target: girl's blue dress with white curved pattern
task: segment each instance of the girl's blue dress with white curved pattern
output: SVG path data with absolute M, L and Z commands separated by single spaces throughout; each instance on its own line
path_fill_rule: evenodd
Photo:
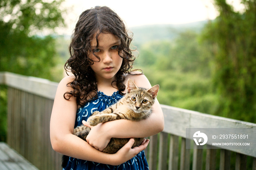
M 76 112 L 75 127 L 81 125 L 82 120 L 87 120 L 94 111 L 101 112 L 110 105 L 115 104 L 122 97 L 123 96 L 118 92 L 114 92 L 112 96 L 107 96 L 102 92 L 98 92 L 97 98 L 93 98 Z M 144 151 L 118 166 L 69 157 L 68 165 L 63 168 L 63 170 L 148 170 L 148 163 Z

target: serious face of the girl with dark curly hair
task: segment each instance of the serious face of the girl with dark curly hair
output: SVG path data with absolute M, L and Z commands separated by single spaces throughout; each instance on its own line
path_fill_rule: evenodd
M 93 53 L 89 54 L 89 58 L 94 61 L 91 69 L 94 71 L 96 80 L 99 79 L 114 79 L 116 73 L 120 69 L 123 58 L 118 55 L 118 47 L 120 46 L 120 39 L 110 33 L 101 33 L 98 36 L 98 48 L 94 52 L 100 57 L 100 61 Z M 91 48 L 94 50 L 97 46 L 96 38 L 91 41 Z

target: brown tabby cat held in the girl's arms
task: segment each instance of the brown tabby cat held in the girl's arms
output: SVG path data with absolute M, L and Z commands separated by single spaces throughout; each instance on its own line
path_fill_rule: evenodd
M 152 113 L 152 105 L 155 102 L 159 85 L 155 85 L 150 89 L 138 88 L 134 82 L 129 79 L 127 82 L 127 93 L 116 104 L 106 108 L 102 112 L 96 111 L 88 118 L 87 122 L 91 126 L 99 123 L 117 119 L 127 119 L 139 121 L 147 119 Z M 86 137 L 90 132 L 90 128 L 84 125 L 74 129 L 74 135 L 86 141 Z M 143 138 L 135 138 L 132 147 L 139 146 Z M 111 138 L 108 146 L 103 152 L 114 154 L 129 141 L 128 138 Z M 62 167 L 67 166 L 68 157 L 63 155 Z

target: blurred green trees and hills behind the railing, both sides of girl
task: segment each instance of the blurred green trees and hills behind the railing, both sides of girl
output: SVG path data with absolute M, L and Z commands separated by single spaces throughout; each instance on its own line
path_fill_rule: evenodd
M 61 80 L 70 40 L 54 33 L 64 26 L 62 2 L 0 2 L 0 71 Z M 215 20 L 130 28 L 139 52 L 134 69 L 160 85 L 161 104 L 256 123 L 256 0 L 242 0 L 244 11 L 214 3 Z M 0 88 L 4 141 L 6 89 Z

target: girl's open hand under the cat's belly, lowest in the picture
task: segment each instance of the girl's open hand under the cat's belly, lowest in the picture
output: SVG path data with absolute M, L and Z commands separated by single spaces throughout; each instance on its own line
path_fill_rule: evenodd
M 138 147 L 131 148 L 134 143 L 134 138 L 131 138 L 127 144 L 125 144 L 119 151 L 117 151 L 114 155 L 114 160 L 117 162 L 114 165 L 120 165 L 137 155 L 139 152 L 146 149 L 149 143 L 149 139 L 144 139 L 143 142 Z

